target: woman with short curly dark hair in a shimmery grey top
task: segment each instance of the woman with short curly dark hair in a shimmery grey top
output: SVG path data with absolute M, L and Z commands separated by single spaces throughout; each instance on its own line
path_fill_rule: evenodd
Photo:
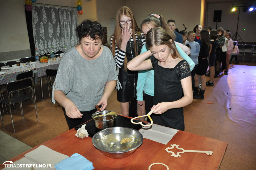
M 101 45 L 104 28 L 85 20 L 76 31 L 80 42 L 62 57 L 52 92 L 69 129 L 90 120 L 95 105 L 106 108 L 118 79 L 112 53 Z

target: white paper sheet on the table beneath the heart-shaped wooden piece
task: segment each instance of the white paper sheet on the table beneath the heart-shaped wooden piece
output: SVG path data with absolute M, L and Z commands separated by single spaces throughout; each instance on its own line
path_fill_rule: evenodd
M 142 127 L 139 132 L 141 132 L 142 136 L 146 139 L 150 139 L 152 141 L 166 145 L 178 132 L 178 130 L 157 124 L 152 124 L 152 126 Z

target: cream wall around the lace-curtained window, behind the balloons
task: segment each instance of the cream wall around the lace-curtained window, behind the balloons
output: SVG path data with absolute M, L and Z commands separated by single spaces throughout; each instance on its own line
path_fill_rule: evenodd
M 77 0 L 37 0 L 36 3 L 73 6 Z M 78 15 L 78 22 L 84 19 L 97 20 L 96 0 L 82 1 L 83 14 Z M 31 56 L 25 18 L 24 0 L 0 1 L 0 61 Z

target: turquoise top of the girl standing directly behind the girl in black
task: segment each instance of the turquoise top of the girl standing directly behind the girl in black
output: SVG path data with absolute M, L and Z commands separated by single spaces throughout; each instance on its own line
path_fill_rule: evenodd
M 191 58 L 177 45 L 177 50 L 179 54 L 182 56 L 183 59 L 185 59 L 189 66 L 190 71 L 192 71 L 195 67 L 195 63 L 191 60 Z M 146 48 L 146 44 L 141 49 L 141 54 L 143 52 L 146 52 L 148 49 Z M 137 100 L 143 101 L 143 91 L 144 93 L 154 96 L 154 70 L 148 69 L 148 70 L 140 70 L 138 71 L 138 80 L 137 80 Z

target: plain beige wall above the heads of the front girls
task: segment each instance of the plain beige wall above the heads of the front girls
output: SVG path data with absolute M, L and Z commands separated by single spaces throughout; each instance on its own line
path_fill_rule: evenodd
M 188 31 L 200 24 L 201 0 L 128 0 L 126 6 L 132 9 L 138 26 L 147 15 L 152 13 L 163 15 L 166 22 L 168 19 L 174 19 L 179 31 L 184 30 L 182 24 Z

